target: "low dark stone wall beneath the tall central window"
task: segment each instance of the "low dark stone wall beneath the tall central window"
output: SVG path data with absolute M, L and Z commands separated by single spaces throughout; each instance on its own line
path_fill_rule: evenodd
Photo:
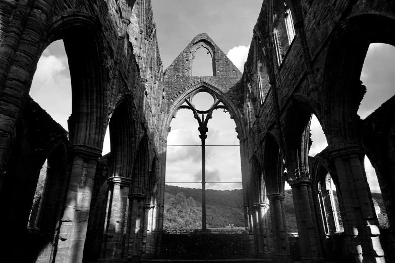
M 155 233 L 155 258 L 229 259 L 254 258 L 254 235 L 244 229 L 174 229 Z

